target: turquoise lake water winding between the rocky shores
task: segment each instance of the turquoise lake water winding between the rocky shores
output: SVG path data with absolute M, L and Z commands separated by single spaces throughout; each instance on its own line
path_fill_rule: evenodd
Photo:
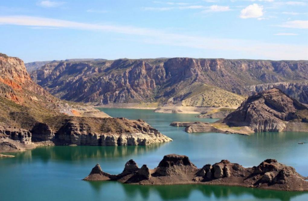
M 214 121 L 193 114 L 163 114 L 151 110 L 101 108 L 113 117 L 144 119 L 172 142 L 151 146 L 57 146 L 12 153 L 0 159 L 0 200 L 308 200 L 307 192 L 265 191 L 243 187 L 205 185 L 138 186 L 117 182 L 82 181 L 99 163 L 120 173 L 129 159 L 139 167 L 158 165 L 164 155 L 187 155 L 201 168 L 228 159 L 245 167 L 267 158 L 293 166 L 308 176 L 308 132 L 258 133 L 252 136 L 186 133 L 172 121 Z

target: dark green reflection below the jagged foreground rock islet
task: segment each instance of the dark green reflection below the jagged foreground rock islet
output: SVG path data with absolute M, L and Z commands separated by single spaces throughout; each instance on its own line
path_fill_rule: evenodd
M 104 191 L 104 186 L 121 185 L 127 197 L 136 198 L 141 196 L 143 200 L 149 199 L 150 195 L 153 193 L 159 195 L 161 200 L 189 199 L 192 198 L 193 191 L 201 192 L 204 196 L 203 198 L 198 197 L 199 199 L 211 199 L 213 197 L 216 199 L 228 199 L 230 197 L 245 199 L 252 196 L 255 199 L 278 199 L 288 201 L 296 196 L 308 194 L 308 192 L 299 191 L 272 191 L 236 186 L 198 184 L 144 186 L 123 184 L 116 181 L 92 181 L 89 183 L 96 192 Z

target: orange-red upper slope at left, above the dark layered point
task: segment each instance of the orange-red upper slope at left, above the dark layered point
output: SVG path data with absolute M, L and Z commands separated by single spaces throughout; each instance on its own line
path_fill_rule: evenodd
M 32 81 L 22 60 L 0 54 L 0 125 L 30 129 L 50 116 L 82 116 L 91 112 L 99 111 L 53 97 Z

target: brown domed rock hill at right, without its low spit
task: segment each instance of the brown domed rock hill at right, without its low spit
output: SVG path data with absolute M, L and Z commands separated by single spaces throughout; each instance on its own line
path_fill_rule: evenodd
M 302 122 L 307 126 L 307 117 L 307 105 L 273 88 L 248 97 L 223 123 L 249 126 L 256 132 L 279 132 L 288 130 L 289 122 Z

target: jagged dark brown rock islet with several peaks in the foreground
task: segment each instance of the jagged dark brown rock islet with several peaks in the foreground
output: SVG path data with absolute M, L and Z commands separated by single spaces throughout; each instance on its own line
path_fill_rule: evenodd
M 244 168 L 243 166 L 221 160 L 213 165 L 206 164 L 197 168 L 187 156 L 169 154 L 154 169 L 146 165 L 138 168 L 130 160 L 134 169 L 124 171 L 118 175 L 110 175 L 102 171 L 97 164 L 90 175 L 84 180 L 117 180 L 122 183 L 141 185 L 165 184 L 215 184 L 229 186 L 256 187 L 283 191 L 307 191 L 306 177 L 299 175 L 294 168 L 278 163 L 277 160 L 267 159 L 258 166 Z

